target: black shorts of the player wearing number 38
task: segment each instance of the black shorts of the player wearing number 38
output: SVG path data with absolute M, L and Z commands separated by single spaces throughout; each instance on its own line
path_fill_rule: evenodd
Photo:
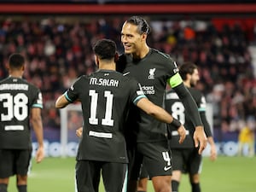
M 0 149 L 0 178 L 27 175 L 31 164 L 32 150 Z

